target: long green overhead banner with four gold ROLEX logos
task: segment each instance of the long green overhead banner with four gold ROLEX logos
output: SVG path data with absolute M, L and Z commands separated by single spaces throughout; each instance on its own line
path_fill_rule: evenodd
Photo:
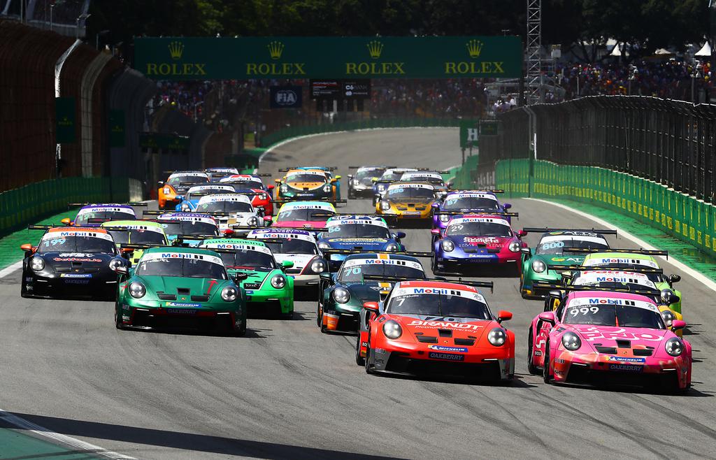
M 518 36 L 137 37 L 153 79 L 517 78 Z

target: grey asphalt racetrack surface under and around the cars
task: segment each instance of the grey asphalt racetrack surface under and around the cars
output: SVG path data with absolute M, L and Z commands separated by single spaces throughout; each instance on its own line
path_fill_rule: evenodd
M 331 134 L 280 147 L 261 172 L 450 167 L 457 142 L 454 129 Z M 352 200 L 342 210 L 371 206 Z M 594 226 L 539 202 L 513 200 L 513 210 L 518 228 Z M 407 233 L 409 249 L 427 250 L 427 230 Z M 495 279 L 485 295 L 493 311 L 514 314 L 516 381 L 483 386 L 369 376 L 354 363 L 354 336 L 320 333 L 314 302 L 296 303 L 294 320 L 249 320 L 244 338 L 117 331 L 112 303 L 23 299 L 19 277 L 0 280 L 0 408 L 138 459 L 716 456 L 715 293 L 688 276 L 679 288 L 695 363 L 683 396 L 529 375 L 527 328 L 542 304 L 521 299 L 517 278 Z

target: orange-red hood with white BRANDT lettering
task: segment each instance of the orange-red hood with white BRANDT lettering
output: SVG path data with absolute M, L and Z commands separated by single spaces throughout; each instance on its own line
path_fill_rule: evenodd
M 422 333 L 423 336 L 438 337 L 438 330 L 450 331 L 452 337 L 445 337 L 452 344 L 453 338 L 475 338 L 475 344 L 480 343 L 480 339 L 485 335 L 485 331 L 489 331 L 493 327 L 500 325 L 493 320 L 477 320 L 473 318 L 449 318 L 428 315 L 387 315 L 392 320 L 396 320 L 402 326 L 403 331 Z M 442 337 L 439 343 L 442 342 Z

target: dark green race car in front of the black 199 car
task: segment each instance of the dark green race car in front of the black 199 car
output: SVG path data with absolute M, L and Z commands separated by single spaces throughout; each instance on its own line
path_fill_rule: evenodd
M 221 257 L 198 248 L 150 248 L 119 279 L 115 324 L 122 328 L 210 328 L 246 333 L 245 275 L 230 276 Z

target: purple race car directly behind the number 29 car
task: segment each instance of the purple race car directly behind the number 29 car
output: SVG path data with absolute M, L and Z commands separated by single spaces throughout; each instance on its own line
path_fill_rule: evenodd
M 432 228 L 440 230 L 448 226 L 452 215 L 470 212 L 507 212 L 510 203 L 500 204 L 495 193 L 503 190 L 450 190 L 442 202 L 432 205 Z M 507 221 L 511 222 L 510 216 Z

